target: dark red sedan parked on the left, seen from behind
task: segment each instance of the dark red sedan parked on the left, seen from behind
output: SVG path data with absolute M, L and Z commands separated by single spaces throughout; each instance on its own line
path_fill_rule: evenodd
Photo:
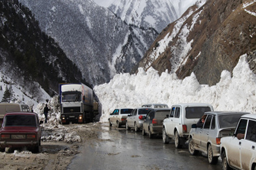
M 0 128 L 0 149 L 27 147 L 38 153 L 41 144 L 41 127 L 38 114 L 29 112 L 6 113 Z

